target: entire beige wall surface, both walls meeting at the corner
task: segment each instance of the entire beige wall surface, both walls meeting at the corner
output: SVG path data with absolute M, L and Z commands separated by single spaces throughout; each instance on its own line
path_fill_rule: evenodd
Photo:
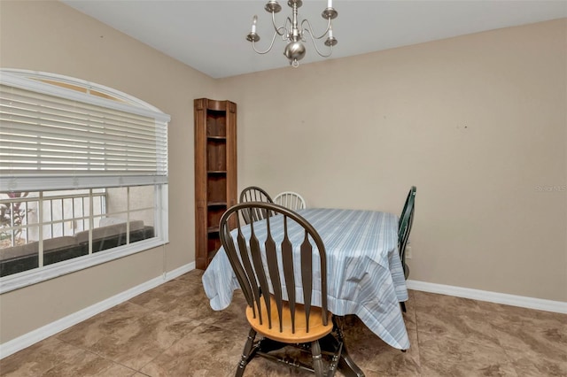
M 170 243 L 0 296 L 0 342 L 194 260 L 197 97 L 238 105 L 239 188 L 400 212 L 416 185 L 411 279 L 567 301 L 567 193 L 537 190 L 567 184 L 566 32 L 552 21 L 214 81 L 64 4 L 1 1 L 0 66 L 117 88 L 172 121 Z

